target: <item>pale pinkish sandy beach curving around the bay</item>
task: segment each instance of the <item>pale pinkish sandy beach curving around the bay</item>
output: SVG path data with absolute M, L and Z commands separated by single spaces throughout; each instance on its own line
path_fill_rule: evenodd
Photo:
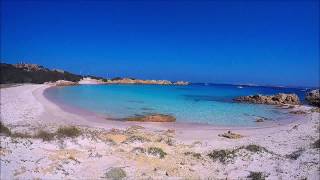
M 263 128 L 118 122 L 58 106 L 43 95 L 49 87 L 1 89 L 1 122 L 12 132 L 75 125 L 82 134 L 52 141 L 2 135 L 1 179 L 97 179 L 110 177 L 115 167 L 128 179 L 246 179 L 251 172 L 267 179 L 319 179 L 319 148 L 313 145 L 319 113 L 310 107 L 295 108 L 307 112 L 297 121 Z M 221 137 L 228 130 L 242 137 Z M 216 159 L 217 151 L 224 158 Z

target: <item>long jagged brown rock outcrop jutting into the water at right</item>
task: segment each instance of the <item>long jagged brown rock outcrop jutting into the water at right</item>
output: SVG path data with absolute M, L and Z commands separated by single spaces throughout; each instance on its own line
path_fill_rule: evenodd
M 243 102 L 243 103 L 254 103 L 254 104 L 269 104 L 269 105 L 300 104 L 299 97 L 296 94 L 284 94 L 284 93 L 279 93 L 271 96 L 264 96 L 260 94 L 252 95 L 252 96 L 241 96 L 241 97 L 235 98 L 234 101 Z

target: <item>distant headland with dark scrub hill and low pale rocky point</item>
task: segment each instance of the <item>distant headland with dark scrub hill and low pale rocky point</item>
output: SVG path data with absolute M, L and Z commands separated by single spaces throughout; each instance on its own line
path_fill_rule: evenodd
M 150 85 L 189 85 L 186 81 L 171 82 L 168 80 L 142 80 L 135 78 L 103 78 L 82 76 L 60 69 L 49 69 L 37 64 L 0 64 L 0 84 L 10 83 L 51 83 L 58 86 L 76 84 L 150 84 Z

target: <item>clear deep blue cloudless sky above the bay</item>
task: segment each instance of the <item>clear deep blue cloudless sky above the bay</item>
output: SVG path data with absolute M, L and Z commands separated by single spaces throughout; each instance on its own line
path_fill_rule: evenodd
M 3 62 L 104 77 L 319 86 L 319 0 L 1 2 Z

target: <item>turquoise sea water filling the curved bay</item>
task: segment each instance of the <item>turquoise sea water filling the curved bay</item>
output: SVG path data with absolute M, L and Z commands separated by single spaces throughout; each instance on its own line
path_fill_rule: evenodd
M 296 93 L 304 89 L 237 85 L 80 85 L 51 88 L 51 98 L 66 105 L 103 114 L 114 119 L 151 113 L 170 114 L 177 122 L 231 126 L 255 126 L 257 117 L 272 121 L 286 119 L 288 110 L 275 106 L 241 104 L 233 98 L 252 94 Z

